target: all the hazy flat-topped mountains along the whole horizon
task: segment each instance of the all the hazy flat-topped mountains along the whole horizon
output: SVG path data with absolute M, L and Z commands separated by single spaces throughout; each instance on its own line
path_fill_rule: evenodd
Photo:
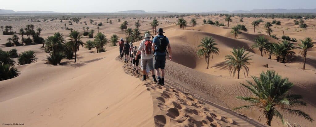
M 58 13 L 54 11 L 14 11 L 14 10 L 5 10 L 0 9 L 0 14 L 44 14 L 44 13 Z M 88 13 L 88 12 L 87 12 Z M 93 13 L 130 13 L 130 14 L 167 14 L 167 13 L 174 13 L 168 11 L 151 11 L 146 12 L 143 10 L 127 10 L 127 11 L 117 11 L 117 12 L 93 12 Z M 246 10 L 235 10 L 235 11 L 211 11 L 206 13 L 316 13 L 316 9 L 254 9 L 250 11 Z

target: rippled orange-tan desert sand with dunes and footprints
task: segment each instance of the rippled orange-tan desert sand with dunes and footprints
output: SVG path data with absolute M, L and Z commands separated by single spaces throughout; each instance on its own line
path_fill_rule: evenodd
M 230 109 L 246 104 L 235 98 L 237 95 L 250 95 L 250 92 L 240 85 L 251 80 L 251 76 L 258 76 L 267 69 L 276 70 L 283 77 L 289 78 L 295 84 L 291 92 L 301 94 L 307 107 L 298 109 L 307 112 L 313 119 L 316 118 L 315 84 L 316 80 L 316 48 L 309 49 L 307 55 L 306 70 L 302 70 L 302 57 L 296 55 L 288 63 L 278 63 L 272 56 L 260 56 L 257 49 L 250 49 L 253 39 L 261 34 L 266 34 L 263 23 L 253 32 L 252 20 L 259 18 L 244 18 L 239 22 L 239 17 L 233 17 L 229 27 L 236 24 L 244 24 L 248 32 L 242 32 L 238 39 L 230 34 L 229 27 L 216 27 L 202 25 L 203 19 L 219 20 L 227 24 L 224 17 L 218 16 L 187 16 L 189 22 L 196 18 L 198 25 L 180 30 L 173 24 L 176 19 L 159 20 L 165 35 L 169 38 L 173 47 L 173 60 L 166 64 L 166 86 L 156 86 L 151 81 L 141 81 L 140 75 L 132 72 L 131 64 L 124 64 L 119 55 L 118 47 L 106 45 L 106 52 L 96 54 L 95 49 L 87 50 L 82 47 L 77 53 L 78 62 L 64 59 L 63 66 L 51 66 L 45 64 L 47 53 L 39 45 L 14 47 L 19 52 L 33 50 L 39 58 L 37 62 L 16 66 L 21 75 L 0 82 L 0 119 L 3 123 L 24 123 L 25 126 L 265 126 L 265 121 L 257 121 L 258 109 L 241 110 L 240 113 Z M 97 32 L 96 25 L 88 27 Z M 93 19 L 95 22 L 105 22 L 100 26 L 100 32 L 107 35 L 113 33 L 119 37 L 121 34 L 119 25 L 128 20 L 128 27 L 135 28 L 132 18 L 110 18 L 113 24 L 106 24 L 105 18 Z M 138 19 L 137 19 L 138 20 Z M 149 19 L 139 19 L 140 30 L 151 30 Z M 305 20 L 309 26 L 301 29 L 294 25 L 293 19 L 263 19 L 264 21 L 280 20 L 281 25 L 273 25 L 273 33 L 281 38 L 283 31 L 291 38 L 304 39 L 311 37 L 316 40 L 316 21 Z M 64 20 L 65 22 L 66 20 Z M 54 32 L 62 32 L 66 37 L 69 30 L 62 30 L 64 23 L 57 21 L 30 22 L 0 21 L 1 26 L 11 25 L 12 31 L 17 31 L 27 24 L 34 24 L 35 29 L 43 29 L 41 37 L 46 38 Z M 68 23 L 67 23 L 68 24 Z M 69 28 L 83 32 L 84 24 L 73 23 Z M 87 27 L 85 26 L 85 27 Z M 152 32 L 152 30 L 151 30 Z M 206 69 L 203 58 L 197 58 L 197 45 L 204 37 L 212 36 L 218 48 L 219 55 L 214 55 L 210 61 L 210 68 Z M 279 42 L 274 38 L 268 38 L 271 42 Z M 7 42 L 10 35 L 0 35 L 0 44 Z M 83 42 L 92 40 L 83 38 Z M 295 45 L 300 42 L 295 43 Z M 139 45 L 136 42 L 134 45 Z M 221 67 L 224 56 L 231 54 L 233 47 L 245 47 L 252 56 L 250 73 L 241 79 L 230 77 L 228 70 Z M 12 47 L 1 49 L 10 50 Z M 298 54 L 299 49 L 295 49 Z M 264 67 L 269 64 L 269 68 Z M 122 80 L 123 79 L 123 80 Z M 312 127 L 313 123 L 303 118 L 284 114 L 285 118 L 301 126 Z M 1 124 L 1 123 L 0 123 Z M 0 125 L 1 126 L 1 125 Z M 278 119 L 272 121 L 272 126 L 282 126 Z

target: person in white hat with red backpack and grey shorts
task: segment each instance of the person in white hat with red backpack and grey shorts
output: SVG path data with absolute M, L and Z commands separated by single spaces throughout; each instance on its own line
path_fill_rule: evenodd
M 143 80 L 146 80 L 146 69 L 148 67 L 153 76 L 153 81 L 156 83 L 157 80 L 156 80 L 156 76 L 154 72 L 153 51 L 151 49 L 151 45 L 153 44 L 153 41 L 150 40 L 150 35 L 148 33 L 146 33 L 143 38 L 145 39 L 139 45 L 138 51 L 135 55 L 135 60 L 137 59 L 137 55 L 141 53 L 141 61 L 142 61 L 141 67 L 143 69 Z

